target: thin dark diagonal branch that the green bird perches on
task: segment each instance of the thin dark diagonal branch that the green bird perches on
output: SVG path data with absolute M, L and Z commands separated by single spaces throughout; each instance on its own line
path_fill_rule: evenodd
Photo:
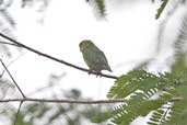
M 32 48 L 32 47 L 28 47 L 28 46 L 26 46 L 26 45 L 24 45 L 24 44 L 22 44 L 22 43 L 20 43 L 20 42 L 17 42 L 17 41 L 15 41 L 15 39 L 13 39 L 13 38 L 7 36 L 7 35 L 4 35 L 4 34 L 2 34 L 2 33 L 0 33 L 0 36 L 3 37 L 3 38 L 5 38 L 5 39 L 9 39 L 10 42 L 16 44 L 17 46 L 21 46 L 21 47 L 23 47 L 23 48 L 25 48 L 25 49 L 27 49 L 27 50 L 30 50 L 30 52 L 33 52 L 33 53 L 35 53 L 35 54 L 38 54 L 39 56 L 49 58 L 49 59 L 51 59 L 51 60 L 55 60 L 55 61 L 57 61 L 57 63 L 67 65 L 67 66 L 69 66 L 69 67 L 75 68 L 75 69 L 79 69 L 79 70 L 81 70 L 81 71 L 85 71 L 85 72 L 89 72 L 89 71 L 90 71 L 89 69 L 85 69 L 85 68 L 75 66 L 75 65 L 73 65 L 73 64 L 67 63 L 67 61 L 65 61 L 65 60 L 58 59 L 58 58 L 56 58 L 56 57 L 52 57 L 52 56 L 50 56 L 50 55 L 44 54 L 44 53 L 42 53 L 42 52 L 39 52 L 39 50 L 36 50 L 36 49 Z M 97 72 L 96 72 L 96 71 L 92 71 L 92 73 L 97 76 Z M 105 73 L 101 73 L 101 76 L 102 76 L 102 77 L 105 77 L 105 78 L 110 78 L 110 79 L 117 79 L 117 78 L 118 78 L 118 77 L 116 77 L 116 76 L 110 76 L 110 75 L 105 75 Z

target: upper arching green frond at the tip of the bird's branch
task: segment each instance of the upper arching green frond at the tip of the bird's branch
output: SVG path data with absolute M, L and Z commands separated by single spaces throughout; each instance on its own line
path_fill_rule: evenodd
M 155 76 L 144 70 L 133 70 L 119 77 L 115 84 L 110 88 L 107 96 L 110 99 L 126 98 L 137 90 L 152 92 L 155 91 L 155 88 L 162 88 L 163 84 L 165 86 L 163 81 L 164 77 L 162 78 L 161 73 L 160 76 Z M 152 89 L 152 91 L 150 91 L 150 89 Z

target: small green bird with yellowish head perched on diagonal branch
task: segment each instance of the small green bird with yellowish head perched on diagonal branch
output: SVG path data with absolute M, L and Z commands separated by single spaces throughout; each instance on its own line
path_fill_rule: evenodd
M 98 75 L 102 70 L 112 71 L 105 54 L 94 45 L 90 39 L 84 39 L 79 44 L 80 52 L 83 55 L 85 64 L 90 68 L 89 75 L 92 70 L 96 71 Z

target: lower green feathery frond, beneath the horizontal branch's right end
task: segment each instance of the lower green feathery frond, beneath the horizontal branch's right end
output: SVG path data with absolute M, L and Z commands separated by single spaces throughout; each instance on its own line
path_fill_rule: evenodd
M 110 122 L 114 124 L 129 125 L 136 117 L 145 116 L 152 110 L 161 107 L 165 104 L 166 100 L 172 98 L 171 94 L 165 93 L 157 100 L 149 100 L 153 94 L 147 95 L 145 93 L 137 92 L 126 103 L 115 106 L 114 111 L 104 113 L 102 117 L 97 117 L 97 121 L 94 122 L 97 123 L 110 118 Z

